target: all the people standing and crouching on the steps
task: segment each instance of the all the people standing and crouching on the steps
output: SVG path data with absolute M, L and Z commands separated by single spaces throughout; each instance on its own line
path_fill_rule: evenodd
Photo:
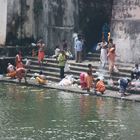
M 45 43 L 42 39 L 40 39 L 35 45 L 38 48 L 38 64 L 40 66 L 40 73 L 35 76 L 36 81 L 39 84 L 46 84 L 46 76 L 42 72 L 42 65 L 45 57 Z M 81 35 L 74 36 L 74 50 L 75 53 L 72 54 L 69 50 L 68 44 L 66 40 L 62 41 L 62 47 L 59 45 L 56 46 L 54 55 L 52 58 L 55 58 L 58 62 L 58 66 L 60 68 L 60 80 L 65 78 L 65 66 L 68 59 L 75 59 L 76 63 L 81 63 L 83 60 L 83 50 L 84 50 L 84 39 Z M 97 50 L 100 50 L 100 63 L 101 67 L 104 69 L 106 64 L 109 64 L 109 74 L 110 77 L 115 69 L 115 57 L 116 57 L 116 46 L 113 43 L 112 39 L 109 41 L 105 41 L 104 38 L 102 42 L 97 44 Z M 15 57 L 15 66 L 11 63 L 8 63 L 7 66 L 7 76 L 11 78 L 17 78 L 19 83 L 24 78 L 27 83 L 26 74 L 28 72 L 27 66 L 29 64 L 23 64 L 21 51 L 18 51 L 18 54 Z M 79 75 L 79 83 L 82 90 L 87 90 L 88 92 L 94 89 L 95 93 L 104 94 L 106 90 L 105 83 L 102 78 L 97 77 L 96 79 L 93 77 L 92 65 L 88 64 L 87 72 L 81 72 Z M 120 78 L 119 83 L 119 92 L 121 96 L 125 95 L 126 88 L 130 85 L 133 79 L 140 78 L 140 68 L 138 64 L 135 65 L 135 68 L 131 72 L 131 79 L 129 78 Z M 63 80 L 64 81 L 64 80 Z M 67 80 L 68 81 L 68 80 Z

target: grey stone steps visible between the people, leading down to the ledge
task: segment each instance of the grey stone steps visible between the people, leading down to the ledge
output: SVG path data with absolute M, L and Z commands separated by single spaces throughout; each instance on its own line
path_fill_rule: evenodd
M 34 73 L 39 73 L 40 67 L 38 65 L 37 57 L 28 57 L 28 59 L 31 60 L 31 65 L 28 67 L 30 71 L 27 74 L 27 77 L 33 77 Z M 46 63 L 47 62 L 47 63 Z M 99 63 L 99 53 L 91 53 L 87 55 L 87 58 L 82 63 L 75 63 L 74 60 L 68 60 L 68 63 L 70 64 L 70 71 L 66 72 L 65 74 L 72 74 L 76 79 L 79 78 L 79 75 L 81 72 L 87 71 L 87 65 L 92 64 L 93 68 L 96 70 L 96 73 L 93 73 L 94 77 L 97 78 L 97 73 L 104 73 L 104 79 L 107 86 L 107 89 L 110 90 L 118 90 L 118 84 L 117 81 L 120 77 L 129 77 L 131 69 L 134 66 L 133 64 L 126 64 L 126 63 L 116 63 L 119 72 L 113 73 L 112 79 L 116 83 L 113 87 L 109 86 L 107 81 L 110 79 L 109 72 L 108 72 L 108 66 L 101 72 L 99 69 L 100 63 Z M 59 66 L 56 61 L 56 59 L 53 58 L 45 58 L 44 64 L 42 66 L 43 73 L 47 76 L 47 79 L 53 82 L 59 82 Z M 136 91 L 134 89 L 129 90 L 131 93 L 140 93 L 140 91 Z

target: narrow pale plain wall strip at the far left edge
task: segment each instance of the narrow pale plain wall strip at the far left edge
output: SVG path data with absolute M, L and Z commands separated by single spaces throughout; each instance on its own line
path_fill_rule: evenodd
M 0 1 L 0 45 L 5 45 L 7 26 L 7 0 Z

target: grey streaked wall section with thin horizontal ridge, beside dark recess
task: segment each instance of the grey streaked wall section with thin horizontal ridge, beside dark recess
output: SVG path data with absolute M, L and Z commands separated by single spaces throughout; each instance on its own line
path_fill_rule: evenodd
M 48 51 L 54 51 L 58 44 L 61 46 L 64 39 L 72 50 L 72 34 L 78 20 L 78 0 L 43 0 L 43 4 L 43 22 L 40 27 Z

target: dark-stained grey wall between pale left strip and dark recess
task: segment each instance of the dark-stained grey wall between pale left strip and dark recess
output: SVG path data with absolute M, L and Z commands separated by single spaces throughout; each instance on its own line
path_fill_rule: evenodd
M 51 52 L 66 39 L 71 47 L 77 23 L 78 0 L 10 0 L 7 44 L 26 45 L 43 38 Z

